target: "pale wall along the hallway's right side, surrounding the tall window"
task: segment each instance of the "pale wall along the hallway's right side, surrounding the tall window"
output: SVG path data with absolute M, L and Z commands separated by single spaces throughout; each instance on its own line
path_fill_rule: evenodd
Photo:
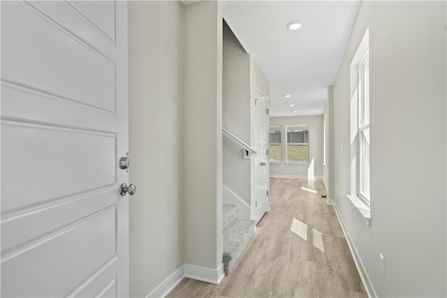
M 346 198 L 349 66 L 368 26 L 371 227 Z M 379 297 L 447 295 L 446 39 L 445 1 L 362 2 L 335 80 L 333 199 Z

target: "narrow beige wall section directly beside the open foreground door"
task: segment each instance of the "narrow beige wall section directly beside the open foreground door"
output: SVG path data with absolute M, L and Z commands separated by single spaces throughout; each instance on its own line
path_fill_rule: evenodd
M 183 6 L 129 1 L 131 297 L 145 297 L 184 262 Z

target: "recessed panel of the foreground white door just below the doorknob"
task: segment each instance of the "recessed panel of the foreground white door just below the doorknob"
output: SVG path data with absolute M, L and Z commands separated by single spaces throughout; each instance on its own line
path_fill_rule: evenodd
M 115 258 L 115 216 L 112 206 L 3 255 L 2 296 L 66 296 Z M 17 287 L 17 281 L 26 286 Z

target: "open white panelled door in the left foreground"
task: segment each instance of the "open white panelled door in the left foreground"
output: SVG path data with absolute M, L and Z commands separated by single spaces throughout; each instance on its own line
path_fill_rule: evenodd
M 1 1 L 1 296 L 128 297 L 127 4 Z

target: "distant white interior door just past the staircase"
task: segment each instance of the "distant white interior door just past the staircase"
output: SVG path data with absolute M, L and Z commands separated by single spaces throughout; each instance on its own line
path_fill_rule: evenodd
M 255 157 L 255 185 L 254 206 L 255 220 L 259 221 L 268 211 L 268 102 L 264 97 L 255 100 L 255 148 L 258 154 Z

